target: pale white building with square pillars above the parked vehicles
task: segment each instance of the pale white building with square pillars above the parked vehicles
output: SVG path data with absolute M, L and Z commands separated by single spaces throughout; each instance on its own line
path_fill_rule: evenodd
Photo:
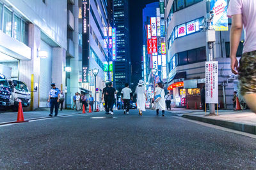
M 46 106 L 51 83 L 65 87 L 66 8 L 58 0 L 0 1 L 0 64 L 26 83 L 31 110 Z

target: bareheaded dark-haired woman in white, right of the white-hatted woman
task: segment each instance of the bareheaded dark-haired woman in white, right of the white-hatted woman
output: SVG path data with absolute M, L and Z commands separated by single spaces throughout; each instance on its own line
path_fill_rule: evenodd
M 156 115 L 159 115 L 159 110 L 162 111 L 162 116 L 164 117 L 164 110 L 165 110 L 165 100 L 164 100 L 164 96 L 165 96 L 165 92 L 164 92 L 164 87 L 163 87 L 163 83 L 159 82 L 157 83 L 157 87 L 155 90 L 155 97 L 157 95 L 161 94 L 161 99 L 159 101 L 155 101 L 156 104 Z

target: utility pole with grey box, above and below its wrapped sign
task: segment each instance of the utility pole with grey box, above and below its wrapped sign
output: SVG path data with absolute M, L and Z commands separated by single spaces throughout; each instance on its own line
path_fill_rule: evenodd
M 211 11 L 211 0 L 206 0 L 206 46 L 207 46 L 207 61 L 212 62 L 213 61 L 213 46 L 214 42 L 216 41 L 215 37 L 215 30 L 212 27 L 212 18 L 213 18 L 213 11 Z M 209 103 L 209 109 L 210 109 L 210 114 L 215 115 L 215 104 L 214 103 Z

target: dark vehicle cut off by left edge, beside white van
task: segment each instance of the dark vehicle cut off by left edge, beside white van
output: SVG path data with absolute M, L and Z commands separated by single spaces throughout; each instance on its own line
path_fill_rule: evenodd
M 9 83 L 4 76 L 0 73 L 0 108 L 6 108 L 10 106 L 10 98 L 12 97 L 12 91 L 10 89 Z

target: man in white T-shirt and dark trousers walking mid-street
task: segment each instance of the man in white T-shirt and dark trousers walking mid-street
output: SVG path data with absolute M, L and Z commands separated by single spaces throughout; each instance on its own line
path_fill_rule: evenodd
M 125 88 L 121 92 L 122 100 L 124 100 L 124 114 L 129 114 L 130 100 L 132 99 L 132 90 L 129 88 L 129 84 L 125 83 Z M 126 110 L 125 110 L 126 109 Z

